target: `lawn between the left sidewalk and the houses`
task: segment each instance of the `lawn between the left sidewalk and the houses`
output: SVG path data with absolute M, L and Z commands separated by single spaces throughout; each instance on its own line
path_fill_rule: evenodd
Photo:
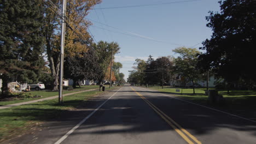
M 63 90 L 63 94 L 67 94 L 67 93 L 73 93 L 73 92 L 79 92 L 79 91 L 85 91 L 88 89 L 94 89 L 94 88 L 99 88 L 99 86 L 81 86 L 81 88 L 75 88 L 72 91 L 67 91 L 67 90 Z M 2 105 L 10 105 L 10 104 L 15 104 L 15 103 L 21 103 L 24 101 L 30 101 L 30 100 L 36 100 L 36 99 L 42 99 L 42 98 L 47 98 L 47 97 L 53 97 L 55 95 L 58 95 L 59 92 L 51 92 L 51 91 L 30 91 L 30 92 L 24 92 L 24 93 L 28 93 L 31 95 L 39 95 L 42 97 L 39 98 L 17 98 L 17 99 L 13 99 L 13 100 L 8 100 L 8 101 L 0 101 L 0 106 Z

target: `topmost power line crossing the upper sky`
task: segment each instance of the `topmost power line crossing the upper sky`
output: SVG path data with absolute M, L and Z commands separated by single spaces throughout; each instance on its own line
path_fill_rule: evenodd
M 187 3 L 187 2 L 195 2 L 195 1 L 201 1 L 201 0 L 176 1 L 176 2 L 155 3 L 155 4 L 141 4 L 141 5 L 128 5 L 128 6 L 108 7 L 108 8 L 101 8 L 101 9 L 121 9 L 121 8 L 149 7 L 149 6 L 155 6 L 155 5 L 166 5 L 166 4 L 174 4 L 174 3 Z M 95 9 L 98 9 L 98 8 L 95 8 Z

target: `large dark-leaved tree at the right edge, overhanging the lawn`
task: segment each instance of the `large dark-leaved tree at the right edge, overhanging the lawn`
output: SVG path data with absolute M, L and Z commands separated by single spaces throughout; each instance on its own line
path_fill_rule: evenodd
M 256 82 L 252 62 L 256 61 L 256 1 L 220 1 L 220 12 L 206 17 L 211 39 L 203 41 L 199 65 L 212 69 L 229 83 L 240 79 Z

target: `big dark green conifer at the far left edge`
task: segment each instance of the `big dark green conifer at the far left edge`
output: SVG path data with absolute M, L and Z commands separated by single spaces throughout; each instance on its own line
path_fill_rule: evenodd
M 42 56 L 43 5 L 39 0 L 0 1 L 0 73 L 3 91 L 11 79 L 38 80 Z

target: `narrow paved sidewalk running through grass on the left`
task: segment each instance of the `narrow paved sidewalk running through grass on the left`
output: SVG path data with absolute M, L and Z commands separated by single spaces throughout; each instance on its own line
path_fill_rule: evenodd
M 67 96 L 67 95 L 77 94 L 77 93 L 95 91 L 96 89 L 98 89 L 98 88 L 95 88 L 95 89 L 88 89 L 88 90 L 85 90 L 85 91 L 79 91 L 79 92 L 74 92 L 74 93 L 67 93 L 67 94 L 63 94 L 63 97 L 65 97 L 65 96 Z M 37 102 L 39 102 L 39 101 L 50 100 L 50 99 L 56 99 L 56 98 L 59 98 L 59 95 L 55 95 L 55 96 L 53 96 L 53 97 L 48 97 L 48 98 L 43 98 L 43 99 L 25 101 L 25 102 L 22 102 L 22 103 L 16 103 L 16 104 L 10 104 L 10 105 L 0 106 L 0 110 L 1 110 L 1 109 L 7 109 L 7 108 L 13 107 L 13 106 L 19 106 L 19 105 L 26 105 L 26 104 L 31 104 L 31 103 L 37 103 Z

